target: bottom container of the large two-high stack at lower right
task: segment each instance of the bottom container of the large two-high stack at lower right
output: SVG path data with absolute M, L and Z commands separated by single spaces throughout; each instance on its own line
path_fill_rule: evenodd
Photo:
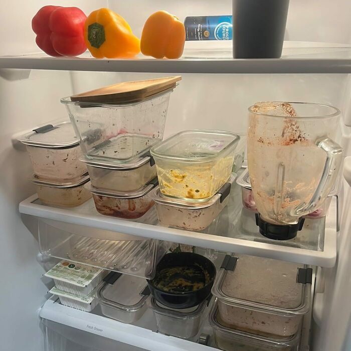
M 260 336 L 222 324 L 215 303 L 209 315 L 217 346 L 224 351 L 297 351 L 299 348 L 300 329 L 288 337 Z

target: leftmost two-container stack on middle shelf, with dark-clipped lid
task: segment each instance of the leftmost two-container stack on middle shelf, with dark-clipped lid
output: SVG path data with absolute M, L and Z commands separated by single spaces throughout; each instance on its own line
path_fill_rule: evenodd
M 21 135 L 19 141 L 26 145 L 34 170 L 30 179 L 43 203 L 74 207 L 91 198 L 83 187 L 89 176 L 79 160 L 82 151 L 70 122 L 36 127 Z

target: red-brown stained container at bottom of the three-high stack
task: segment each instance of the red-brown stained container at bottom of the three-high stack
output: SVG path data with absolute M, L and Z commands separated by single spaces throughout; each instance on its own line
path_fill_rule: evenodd
M 93 194 L 97 212 L 105 216 L 136 219 L 143 216 L 153 205 L 151 190 L 157 178 L 135 192 L 115 192 L 97 189 L 87 183 L 85 189 Z

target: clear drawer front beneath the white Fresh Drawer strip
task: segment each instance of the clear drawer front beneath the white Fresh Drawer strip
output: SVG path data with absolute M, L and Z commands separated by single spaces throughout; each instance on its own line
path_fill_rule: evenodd
M 143 351 L 101 335 L 42 318 L 45 351 Z

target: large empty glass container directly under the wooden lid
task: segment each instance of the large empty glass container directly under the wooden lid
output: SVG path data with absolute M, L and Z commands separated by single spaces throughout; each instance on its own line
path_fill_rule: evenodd
M 84 155 L 93 160 L 130 162 L 163 138 L 167 90 L 134 103 L 94 103 L 61 99 Z

